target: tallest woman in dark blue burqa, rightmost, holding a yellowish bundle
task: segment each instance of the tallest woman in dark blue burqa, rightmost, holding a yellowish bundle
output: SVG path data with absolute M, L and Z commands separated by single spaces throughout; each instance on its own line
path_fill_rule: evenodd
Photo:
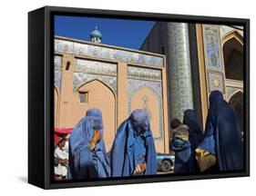
M 202 156 L 204 158 L 209 153 L 216 157 L 215 166 L 212 167 L 214 171 L 243 169 L 243 144 L 238 116 L 219 91 L 210 93 L 205 138 L 197 152 L 206 154 Z

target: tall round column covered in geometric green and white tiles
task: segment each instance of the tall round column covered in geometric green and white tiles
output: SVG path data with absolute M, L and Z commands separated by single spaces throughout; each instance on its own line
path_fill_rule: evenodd
M 167 49 L 170 119 L 182 121 L 184 111 L 193 109 L 188 24 L 167 24 Z

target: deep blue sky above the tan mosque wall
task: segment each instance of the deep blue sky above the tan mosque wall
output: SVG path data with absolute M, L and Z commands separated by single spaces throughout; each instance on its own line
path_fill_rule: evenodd
M 55 35 L 90 41 L 97 26 L 102 44 L 138 49 L 153 25 L 154 21 L 56 15 Z

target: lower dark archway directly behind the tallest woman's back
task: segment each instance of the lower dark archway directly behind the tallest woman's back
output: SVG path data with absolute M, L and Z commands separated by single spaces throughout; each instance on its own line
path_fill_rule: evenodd
M 238 118 L 241 126 L 241 132 L 243 133 L 243 93 L 241 93 L 241 91 L 234 93 L 230 97 L 229 103 L 232 105 L 232 107 L 235 109 L 236 113 L 238 114 Z

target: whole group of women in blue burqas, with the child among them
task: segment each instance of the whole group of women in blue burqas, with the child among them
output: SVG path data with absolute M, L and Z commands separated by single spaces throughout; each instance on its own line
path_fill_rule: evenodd
M 243 144 L 237 114 L 222 93 L 210 93 L 205 131 L 192 110 L 183 122 L 170 121 L 175 173 L 236 171 L 243 169 Z M 103 140 L 102 113 L 89 109 L 68 140 L 67 176 L 71 180 L 157 174 L 158 162 L 148 115 L 133 111 L 122 122 L 109 154 Z

